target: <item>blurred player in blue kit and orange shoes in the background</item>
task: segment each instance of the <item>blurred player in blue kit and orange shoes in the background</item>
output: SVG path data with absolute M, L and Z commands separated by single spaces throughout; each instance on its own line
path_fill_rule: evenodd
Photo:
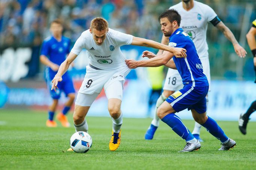
M 62 30 L 63 27 L 59 19 L 52 21 L 50 31 L 53 35 L 45 38 L 41 48 L 40 61 L 42 64 L 47 66 L 45 69 L 45 79 L 47 87 L 50 90 L 51 98 L 53 99 L 53 103 L 49 106 L 49 118 L 46 121 L 46 126 L 48 127 L 57 126 L 56 122 L 53 120 L 53 117 L 62 91 L 69 99 L 65 103 L 62 112 L 57 115 L 57 119 L 61 122 L 63 127 L 70 126 L 66 114 L 68 113 L 75 99 L 75 89 L 68 72 L 62 76 L 63 81 L 58 84 L 58 89 L 56 92 L 51 90 L 51 80 L 53 80 L 60 64 L 65 61 L 66 55 L 69 54 L 71 50 L 71 41 L 69 38 L 62 36 Z

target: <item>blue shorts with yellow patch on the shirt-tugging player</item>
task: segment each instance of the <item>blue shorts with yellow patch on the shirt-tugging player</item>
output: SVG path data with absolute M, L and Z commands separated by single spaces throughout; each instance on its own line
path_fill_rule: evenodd
M 166 99 L 176 112 L 184 109 L 195 109 L 199 114 L 206 112 L 206 98 L 209 86 L 191 87 L 185 85 L 183 89 L 173 93 Z

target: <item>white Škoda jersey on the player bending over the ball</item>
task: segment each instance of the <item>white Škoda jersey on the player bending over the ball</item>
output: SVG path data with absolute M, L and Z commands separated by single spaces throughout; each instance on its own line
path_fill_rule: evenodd
M 84 31 L 75 42 L 71 52 L 78 55 L 84 48 L 88 52 L 89 63 L 99 69 L 113 70 L 126 67 L 125 56 L 120 46 L 129 45 L 133 41 L 133 35 L 120 33 L 108 28 L 106 39 L 102 45 L 97 45 L 89 30 Z

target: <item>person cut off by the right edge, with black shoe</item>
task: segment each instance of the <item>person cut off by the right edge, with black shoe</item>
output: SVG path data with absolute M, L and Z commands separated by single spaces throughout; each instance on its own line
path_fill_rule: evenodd
M 254 65 L 254 71 L 256 75 L 256 19 L 253 21 L 253 25 L 251 26 L 251 29 L 246 34 L 248 45 L 251 49 L 251 52 L 253 53 L 253 65 Z M 256 83 L 256 79 L 254 81 Z M 250 115 L 256 111 L 256 101 L 251 103 L 251 106 L 248 108 L 248 110 L 245 112 L 245 114 L 241 114 L 240 118 L 238 120 L 239 123 L 239 130 L 242 134 L 246 135 L 246 126 L 249 121 Z

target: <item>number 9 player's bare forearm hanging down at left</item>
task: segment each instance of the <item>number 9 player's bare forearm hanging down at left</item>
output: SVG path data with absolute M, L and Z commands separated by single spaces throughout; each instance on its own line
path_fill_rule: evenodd
M 69 65 L 74 61 L 76 57 L 77 57 L 76 54 L 72 52 L 69 53 L 68 57 L 60 65 L 60 68 L 57 74 L 54 76 L 53 80 L 51 81 L 53 83 L 53 85 L 51 86 L 51 90 L 54 90 L 56 92 L 56 89 L 58 89 L 57 87 L 58 82 L 62 81 L 62 75 L 68 70 Z

